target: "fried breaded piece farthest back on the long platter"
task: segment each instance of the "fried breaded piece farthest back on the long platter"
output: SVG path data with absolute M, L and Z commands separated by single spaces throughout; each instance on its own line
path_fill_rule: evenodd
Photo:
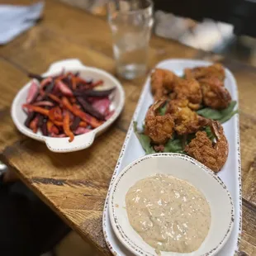
M 185 77 L 187 79 L 195 78 L 218 78 L 220 81 L 225 79 L 225 69 L 221 64 L 212 64 L 207 67 L 197 67 L 194 69 L 185 69 Z

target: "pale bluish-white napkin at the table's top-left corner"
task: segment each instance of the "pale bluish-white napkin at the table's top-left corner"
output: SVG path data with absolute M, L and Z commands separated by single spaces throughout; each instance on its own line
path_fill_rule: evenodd
M 0 5 L 0 45 L 5 45 L 36 24 L 44 2 L 30 6 Z

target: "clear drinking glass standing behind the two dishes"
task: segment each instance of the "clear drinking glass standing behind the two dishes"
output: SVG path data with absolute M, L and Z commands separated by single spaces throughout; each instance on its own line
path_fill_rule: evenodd
M 154 23 L 153 3 L 151 0 L 110 0 L 107 9 L 117 74 L 126 79 L 145 74 Z

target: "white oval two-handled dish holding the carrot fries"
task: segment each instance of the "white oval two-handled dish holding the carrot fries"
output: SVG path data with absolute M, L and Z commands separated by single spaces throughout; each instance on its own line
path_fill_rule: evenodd
M 35 140 L 44 141 L 47 147 L 54 152 L 72 152 L 81 149 L 87 149 L 92 145 L 95 137 L 102 134 L 104 130 L 107 130 L 109 126 L 116 120 L 116 118 L 121 114 L 121 111 L 125 104 L 125 92 L 121 86 L 121 83 L 114 78 L 110 73 L 103 71 L 102 69 L 95 69 L 92 67 L 84 66 L 78 59 L 65 59 L 50 65 L 50 68 L 42 76 L 57 75 L 62 71 L 65 72 L 79 72 L 82 78 L 93 78 L 95 80 L 102 79 L 104 84 L 99 89 L 108 89 L 116 87 L 115 92 L 111 94 L 111 106 L 110 109 L 114 110 L 113 116 L 105 121 L 102 126 L 97 127 L 86 134 L 76 135 L 74 140 L 70 143 L 69 138 L 51 138 L 44 136 L 41 132 L 33 133 L 32 130 L 28 129 L 24 125 L 26 120 L 26 114 L 22 111 L 22 105 L 26 102 L 26 96 L 31 85 L 31 81 L 26 83 L 26 85 L 21 88 L 17 93 L 17 96 L 12 102 L 12 120 L 17 126 L 17 129 L 21 131 L 24 135 L 27 135 Z

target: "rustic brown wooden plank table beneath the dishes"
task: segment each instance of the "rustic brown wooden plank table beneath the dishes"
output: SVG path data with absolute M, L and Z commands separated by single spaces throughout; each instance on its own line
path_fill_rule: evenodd
M 126 107 L 115 125 L 90 149 L 54 154 L 44 144 L 16 130 L 10 106 L 17 91 L 28 81 L 28 71 L 43 73 L 52 62 L 67 58 L 78 58 L 86 65 L 115 73 L 107 22 L 54 0 L 46 1 L 40 24 L 0 48 L 0 159 L 83 239 L 102 254 L 110 255 L 102 234 L 102 209 L 145 78 L 121 80 Z M 243 180 L 239 254 L 256 255 L 256 69 L 154 37 L 150 42 L 150 67 L 167 58 L 217 59 L 235 74 L 239 86 Z

